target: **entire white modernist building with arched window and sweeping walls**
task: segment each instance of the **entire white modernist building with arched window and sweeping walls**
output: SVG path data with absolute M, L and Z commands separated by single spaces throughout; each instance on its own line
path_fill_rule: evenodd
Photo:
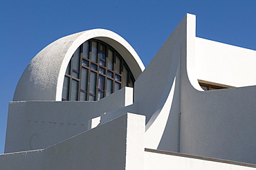
M 255 169 L 255 64 L 190 14 L 146 68 L 109 30 L 57 39 L 19 79 L 0 169 Z

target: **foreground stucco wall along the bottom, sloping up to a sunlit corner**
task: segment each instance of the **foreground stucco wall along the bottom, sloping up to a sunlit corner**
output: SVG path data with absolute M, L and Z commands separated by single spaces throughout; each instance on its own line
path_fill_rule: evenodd
M 255 169 L 145 151 L 144 134 L 145 116 L 127 113 L 46 149 L 2 154 L 0 169 Z

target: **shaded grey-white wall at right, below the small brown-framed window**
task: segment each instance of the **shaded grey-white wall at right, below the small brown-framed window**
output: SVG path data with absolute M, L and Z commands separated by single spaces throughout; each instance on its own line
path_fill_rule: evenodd
M 255 96 L 256 86 L 184 89 L 181 152 L 256 164 Z

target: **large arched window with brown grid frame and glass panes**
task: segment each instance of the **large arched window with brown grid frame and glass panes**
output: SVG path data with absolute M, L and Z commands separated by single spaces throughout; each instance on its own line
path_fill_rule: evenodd
M 68 63 L 62 101 L 98 101 L 124 86 L 134 86 L 125 60 L 108 44 L 90 39 L 75 50 Z

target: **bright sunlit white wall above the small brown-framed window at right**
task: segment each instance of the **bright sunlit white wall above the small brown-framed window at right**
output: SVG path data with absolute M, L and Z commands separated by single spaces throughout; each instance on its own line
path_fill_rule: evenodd
M 256 51 L 196 37 L 197 78 L 230 86 L 256 85 Z

